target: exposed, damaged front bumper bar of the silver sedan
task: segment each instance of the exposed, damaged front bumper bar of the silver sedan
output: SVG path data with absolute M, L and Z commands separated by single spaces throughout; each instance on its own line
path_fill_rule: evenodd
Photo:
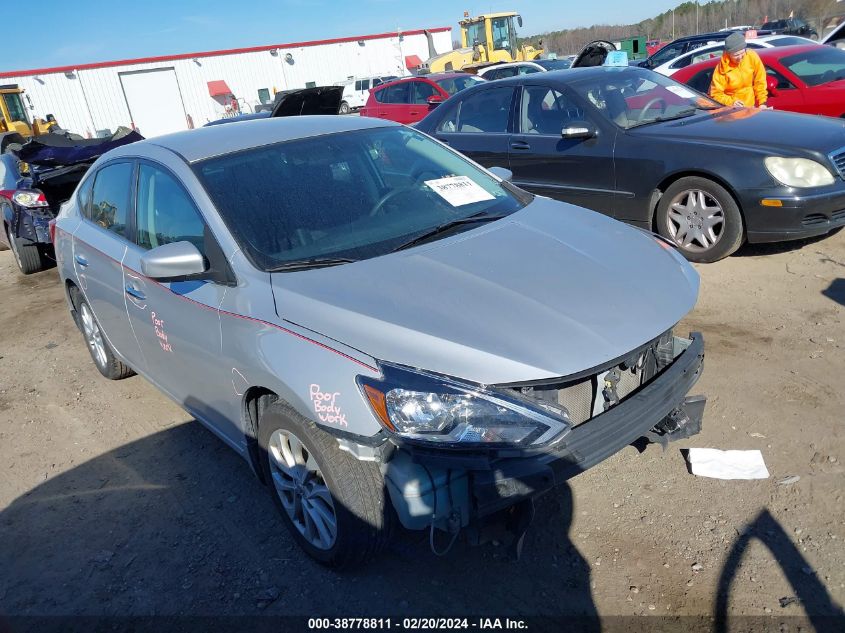
M 640 438 L 665 446 L 701 429 L 705 398 L 687 397 L 703 368 L 704 340 L 674 338 L 672 362 L 624 400 L 575 426 L 543 452 L 489 454 L 403 446 L 383 464 L 401 522 L 454 532 L 481 524 L 584 472 Z

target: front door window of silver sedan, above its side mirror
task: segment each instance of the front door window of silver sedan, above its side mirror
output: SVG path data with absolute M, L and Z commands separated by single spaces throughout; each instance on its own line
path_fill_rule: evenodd
M 138 246 L 190 242 L 205 252 L 205 223 L 182 186 L 167 172 L 142 164 L 136 207 Z

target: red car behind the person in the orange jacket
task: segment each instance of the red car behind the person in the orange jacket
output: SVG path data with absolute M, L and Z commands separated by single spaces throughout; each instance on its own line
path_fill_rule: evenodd
M 845 117 L 845 50 L 818 44 L 757 49 L 776 110 Z M 707 94 L 720 58 L 682 68 L 672 79 Z

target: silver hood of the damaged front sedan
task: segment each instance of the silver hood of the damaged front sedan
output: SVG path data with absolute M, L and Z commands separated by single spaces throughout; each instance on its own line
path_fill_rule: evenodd
M 675 325 L 698 274 L 670 251 L 536 198 L 434 243 L 271 277 L 284 320 L 380 360 L 496 384 L 590 369 Z

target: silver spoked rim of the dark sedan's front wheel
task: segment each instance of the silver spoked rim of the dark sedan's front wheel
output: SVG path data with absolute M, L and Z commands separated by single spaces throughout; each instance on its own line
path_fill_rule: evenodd
M 690 251 L 713 248 L 725 228 L 722 205 L 701 189 L 689 189 L 675 196 L 669 203 L 666 219 L 672 239 Z

